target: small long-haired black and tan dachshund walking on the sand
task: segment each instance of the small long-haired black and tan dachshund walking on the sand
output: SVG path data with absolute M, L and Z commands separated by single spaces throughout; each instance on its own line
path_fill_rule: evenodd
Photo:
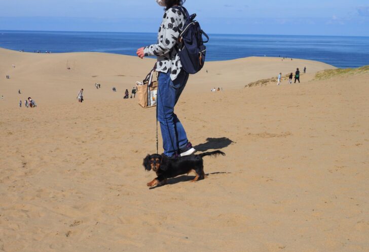
M 183 174 L 194 172 L 196 177 L 191 182 L 205 179 L 204 165 L 202 158 L 204 156 L 217 156 L 226 154 L 222 151 L 205 152 L 198 155 L 189 155 L 178 158 L 167 157 L 164 154 L 147 155 L 143 159 L 143 167 L 146 171 L 153 170 L 157 178 L 147 183 L 147 186 L 154 187 L 159 184 L 166 184 L 167 179 L 177 177 Z

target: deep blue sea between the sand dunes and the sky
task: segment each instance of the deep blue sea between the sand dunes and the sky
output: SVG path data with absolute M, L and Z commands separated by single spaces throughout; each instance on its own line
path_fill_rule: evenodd
M 156 33 L 0 31 L 0 47 L 25 52 L 135 55 Z M 210 34 L 207 60 L 249 56 L 317 60 L 340 68 L 369 65 L 369 37 Z

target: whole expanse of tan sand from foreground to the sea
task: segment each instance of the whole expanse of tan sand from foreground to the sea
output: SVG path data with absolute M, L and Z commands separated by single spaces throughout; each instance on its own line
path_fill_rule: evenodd
M 155 109 L 123 93 L 154 62 L 0 49 L 1 251 L 369 250 L 368 73 L 206 63 L 176 113 L 199 151 L 227 156 L 204 158 L 203 181 L 150 190 L 141 163 L 156 151 Z M 244 88 L 304 66 L 300 85 Z M 38 107 L 19 108 L 29 96 Z

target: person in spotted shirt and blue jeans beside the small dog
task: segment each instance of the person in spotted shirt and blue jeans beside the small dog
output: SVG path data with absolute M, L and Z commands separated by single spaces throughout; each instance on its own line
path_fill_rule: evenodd
M 157 56 L 156 71 L 158 82 L 158 120 L 163 138 L 164 155 L 168 157 L 187 156 L 196 152 L 187 139 L 185 128 L 174 113 L 179 96 L 189 79 L 189 74 L 182 70 L 179 60 L 179 35 L 185 25 L 181 11 L 173 7 L 183 5 L 185 0 L 156 0 L 165 7 L 165 12 L 158 33 L 158 44 L 137 50 L 141 59 L 145 56 Z

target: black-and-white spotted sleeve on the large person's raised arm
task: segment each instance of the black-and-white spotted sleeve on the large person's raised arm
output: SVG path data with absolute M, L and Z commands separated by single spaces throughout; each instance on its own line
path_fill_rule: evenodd
M 158 44 L 145 47 L 145 56 L 163 56 L 172 50 L 179 38 L 179 31 L 182 28 L 179 21 L 182 18 L 183 15 L 173 8 L 164 13 L 163 22 L 159 28 Z

